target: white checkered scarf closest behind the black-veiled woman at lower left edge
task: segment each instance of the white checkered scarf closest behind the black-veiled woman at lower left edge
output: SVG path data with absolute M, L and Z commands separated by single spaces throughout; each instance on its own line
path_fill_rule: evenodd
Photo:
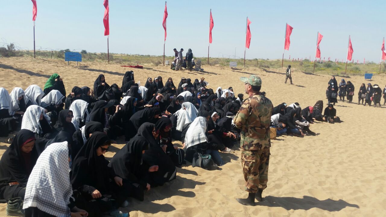
M 38 134 L 41 133 L 41 127 L 39 123 L 40 115 L 43 114 L 47 122 L 50 122 L 51 119 L 44 112 L 44 108 L 38 105 L 30 105 L 23 115 L 22 119 L 22 129 L 27 129 Z

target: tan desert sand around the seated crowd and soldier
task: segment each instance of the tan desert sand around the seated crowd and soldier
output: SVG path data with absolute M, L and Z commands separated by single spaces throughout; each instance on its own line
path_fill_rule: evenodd
M 305 74 L 293 69 L 295 85 L 284 84 L 285 69 L 242 68 L 231 70 L 223 66 L 204 66 L 204 72 L 172 71 L 169 66 L 145 65 L 152 69 L 132 69 L 135 81 L 144 85 L 146 78 L 162 76 L 164 82 L 172 77 L 175 84 L 181 77 L 205 77 L 209 88 L 232 86 L 235 94 L 244 93 L 240 76 L 256 74 L 262 78 L 262 91 L 274 106 L 299 102 L 302 108 L 327 99 L 325 89 L 330 75 Z M 10 93 L 19 86 L 25 90 L 31 84 L 43 88 L 47 78 L 58 73 L 67 93 L 73 86 L 89 86 L 99 74 L 108 84 L 122 84 L 125 71 L 118 64 L 83 62 L 67 63 L 52 59 L 0 58 L 0 86 Z M 340 81 L 341 77 L 336 76 Z M 364 76 L 345 78 L 355 85 L 354 102 Z M 374 75 L 370 81 L 381 88 L 386 76 Z M 383 99 L 381 101 L 383 103 Z M 317 136 L 298 138 L 282 136 L 272 141 L 268 187 L 263 192 L 265 202 L 245 207 L 235 198 L 246 197 L 241 170 L 240 151 L 221 154 L 222 170 L 206 171 L 183 166 L 177 179 L 162 187 L 151 189 L 145 201 L 130 200 L 132 217 L 142 216 L 386 216 L 386 107 L 364 107 L 356 103 L 339 102 L 335 106 L 342 123 L 317 122 L 311 125 Z M 0 154 L 9 144 L 1 138 Z M 122 141 L 122 139 L 121 139 Z M 118 142 L 119 143 L 119 142 Z M 181 142 L 174 142 L 181 144 Z M 105 156 L 109 159 L 124 144 Z M 0 204 L 0 216 L 5 216 L 6 204 Z

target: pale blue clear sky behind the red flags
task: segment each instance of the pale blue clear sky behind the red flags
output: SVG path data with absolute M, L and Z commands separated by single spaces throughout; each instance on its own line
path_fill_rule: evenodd
M 162 0 L 110 0 L 110 52 L 163 54 Z M 168 1 L 165 53 L 173 48 L 191 48 L 197 57 L 208 52 L 209 10 L 214 28 L 211 57 L 244 56 L 245 21 L 248 16 L 252 39 L 246 58 L 279 59 L 283 53 L 285 24 L 294 29 L 284 58 L 315 56 L 317 32 L 322 58 L 345 59 L 348 37 L 353 59 L 379 62 L 386 36 L 385 1 Z M 37 49 L 85 49 L 107 52 L 103 36 L 103 0 L 37 0 Z M 33 49 L 32 2 L 2 1 L 0 45 L 7 42 Z

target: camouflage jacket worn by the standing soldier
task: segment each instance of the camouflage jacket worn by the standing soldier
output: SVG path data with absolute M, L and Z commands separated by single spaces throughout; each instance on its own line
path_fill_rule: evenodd
M 271 100 L 262 95 L 253 95 L 244 100 L 234 118 L 234 124 L 241 129 L 242 149 L 253 151 L 271 147 L 269 125 L 272 109 Z

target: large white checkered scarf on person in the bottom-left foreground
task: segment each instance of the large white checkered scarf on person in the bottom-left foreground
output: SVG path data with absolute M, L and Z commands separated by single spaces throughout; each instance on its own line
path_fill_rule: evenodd
M 37 207 L 50 215 L 69 217 L 72 192 L 68 144 L 53 143 L 42 152 L 29 175 L 23 209 Z

